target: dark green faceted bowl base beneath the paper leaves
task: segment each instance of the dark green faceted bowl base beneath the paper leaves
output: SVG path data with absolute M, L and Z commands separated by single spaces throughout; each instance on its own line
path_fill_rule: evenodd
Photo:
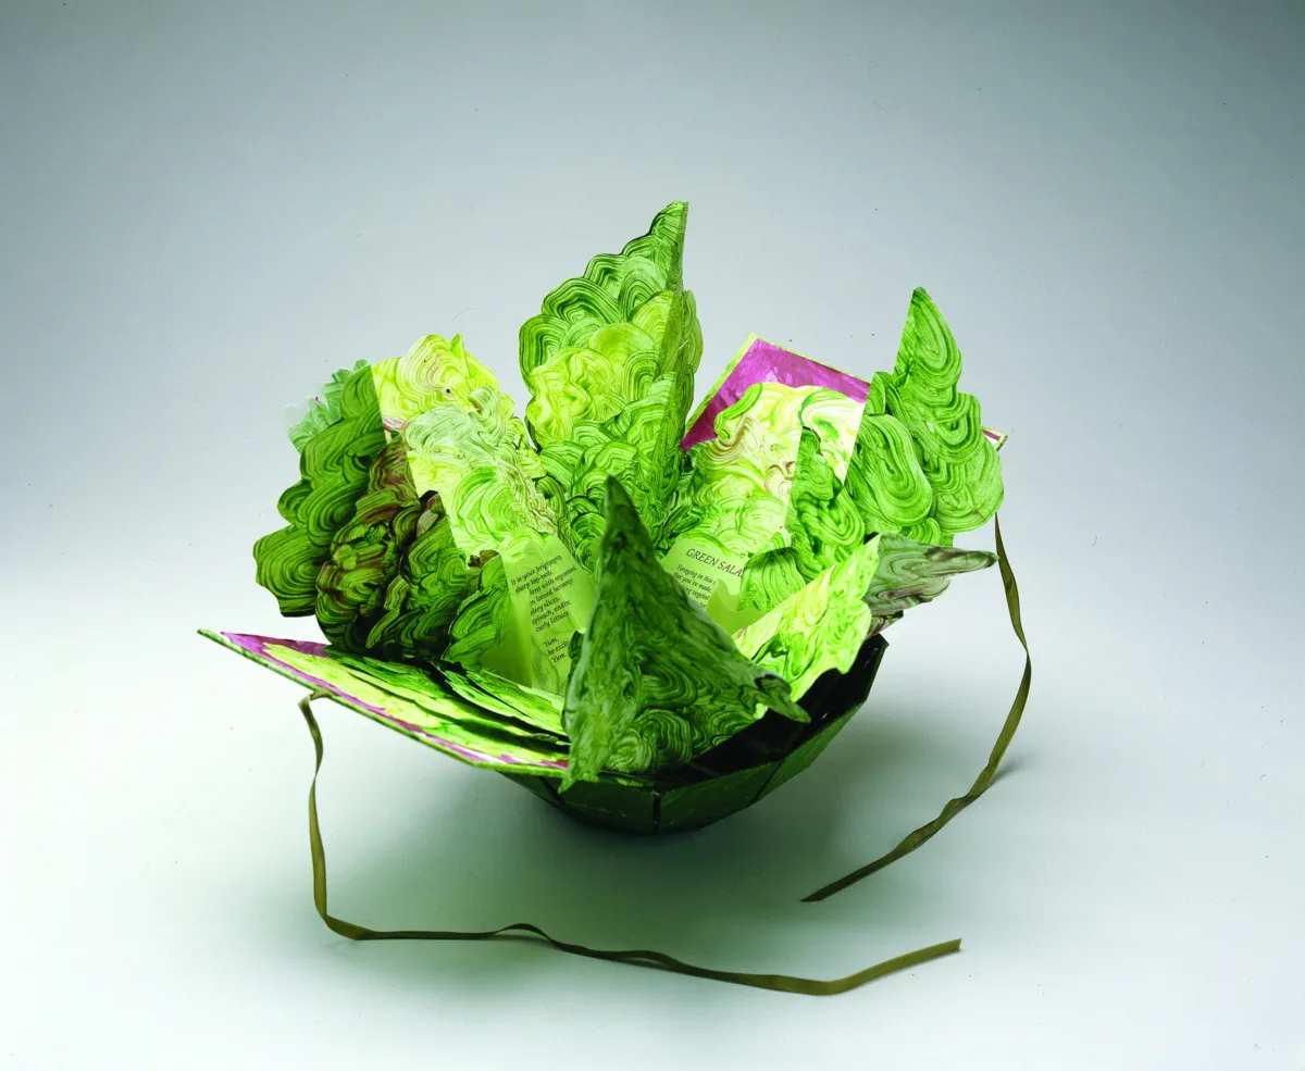
M 796 727 L 796 734 L 791 721 L 769 714 L 675 780 L 579 781 L 560 792 L 552 777 L 504 776 L 589 826 L 643 836 L 701 830 L 752 806 L 810 766 L 865 703 L 886 647 L 882 635 L 872 637 L 847 673 L 821 677 L 801 701 L 812 720 Z

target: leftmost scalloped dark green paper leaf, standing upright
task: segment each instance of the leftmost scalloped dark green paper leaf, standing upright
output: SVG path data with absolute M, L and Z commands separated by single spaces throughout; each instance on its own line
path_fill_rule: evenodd
M 352 372 L 331 402 L 331 423 L 317 430 L 299 458 L 300 480 L 281 496 L 277 511 L 288 527 L 253 548 L 257 581 L 277 596 L 281 612 L 301 617 L 317 607 L 317 574 L 335 534 L 354 515 L 372 462 L 385 447 L 372 372 Z

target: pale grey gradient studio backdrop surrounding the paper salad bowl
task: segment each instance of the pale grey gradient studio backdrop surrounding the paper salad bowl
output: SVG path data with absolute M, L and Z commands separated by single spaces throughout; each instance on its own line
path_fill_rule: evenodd
M 1296 3 L 5 4 L 0 1066 L 1305 1067 L 1302 47 Z M 946 313 L 1011 434 L 1010 775 L 797 903 L 981 766 L 992 570 L 666 843 L 325 704 L 333 905 L 817 976 L 966 941 L 833 999 L 335 938 L 300 691 L 193 633 L 315 634 L 249 557 L 286 403 L 428 331 L 519 400 L 521 321 L 679 197 L 705 382 Z

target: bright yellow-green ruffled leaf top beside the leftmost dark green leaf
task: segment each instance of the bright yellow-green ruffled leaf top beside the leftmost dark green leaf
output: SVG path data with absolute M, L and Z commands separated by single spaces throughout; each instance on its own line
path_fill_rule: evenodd
M 495 374 L 467 352 L 462 335 L 427 335 L 405 356 L 377 361 L 372 380 L 381 419 L 392 430 L 440 404 L 468 410 L 474 391 L 499 386 Z

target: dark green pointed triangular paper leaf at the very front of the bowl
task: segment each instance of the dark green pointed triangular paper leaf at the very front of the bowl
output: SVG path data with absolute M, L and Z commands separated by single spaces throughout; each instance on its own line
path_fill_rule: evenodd
M 788 685 L 748 661 L 658 564 L 634 504 L 607 481 L 594 617 L 579 642 L 562 721 L 562 788 L 603 770 L 655 772 L 692 759 L 767 708 L 806 714 Z

